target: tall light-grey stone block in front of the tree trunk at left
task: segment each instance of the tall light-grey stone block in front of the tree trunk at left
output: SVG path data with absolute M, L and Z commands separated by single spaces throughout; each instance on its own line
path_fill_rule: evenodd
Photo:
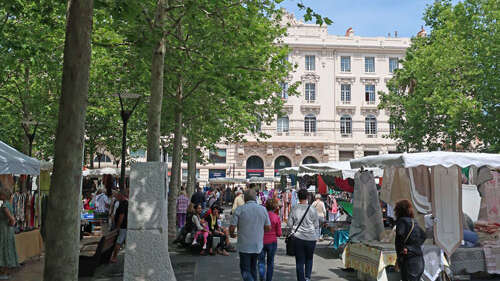
M 167 214 L 167 164 L 132 164 L 124 281 L 176 280 L 168 252 Z

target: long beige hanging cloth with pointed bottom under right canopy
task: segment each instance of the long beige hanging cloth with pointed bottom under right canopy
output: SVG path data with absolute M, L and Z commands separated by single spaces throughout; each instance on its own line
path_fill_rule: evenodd
M 434 239 L 451 256 L 463 237 L 462 172 L 452 166 L 432 168 L 432 210 Z

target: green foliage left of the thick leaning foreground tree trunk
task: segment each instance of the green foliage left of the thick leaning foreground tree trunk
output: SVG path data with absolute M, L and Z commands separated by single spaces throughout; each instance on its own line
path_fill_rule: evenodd
M 0 138 L 34 156 L 50 158 L 60 93 L 65 5 L 52 1 L 0 4 Z M 62 15 L 62 16 L 61 16 Z

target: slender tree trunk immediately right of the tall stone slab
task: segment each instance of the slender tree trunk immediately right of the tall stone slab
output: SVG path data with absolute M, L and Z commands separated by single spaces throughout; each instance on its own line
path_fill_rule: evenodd
M 174 148 L 172 155 L 172 175 L 168 193 L 168 232 L 175 235 L 176 228 L 176 205 L 177 196 L 181 185 L 181 163 L 182 163 L 182 79 L 178 80 L 177 87 L 177 105 L 175 106 L 175 124 L 174 124 Z

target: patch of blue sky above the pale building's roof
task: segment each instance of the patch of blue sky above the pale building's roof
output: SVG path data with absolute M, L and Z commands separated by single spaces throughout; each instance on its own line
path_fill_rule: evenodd
M 304 13 L 299 11 L 298 1 L 285 0 L 281 6 L 303 21 Z M 359 36 L 387 36 L 389 32 L 394 36 L 394 31 L 398 31 L 398 37 L 412 37 L 420 31 L 420 26 L 425 24 L 422 20 L 423 13 L 426 6 L 432 4 L 434 0 L 302 0 L 302 2 L 320 15 L 333 20 L 333 24 L 328 27 L 328 33 L 333 35 L 344 35 L 345 31 L 352 27 L 354 34 Z

